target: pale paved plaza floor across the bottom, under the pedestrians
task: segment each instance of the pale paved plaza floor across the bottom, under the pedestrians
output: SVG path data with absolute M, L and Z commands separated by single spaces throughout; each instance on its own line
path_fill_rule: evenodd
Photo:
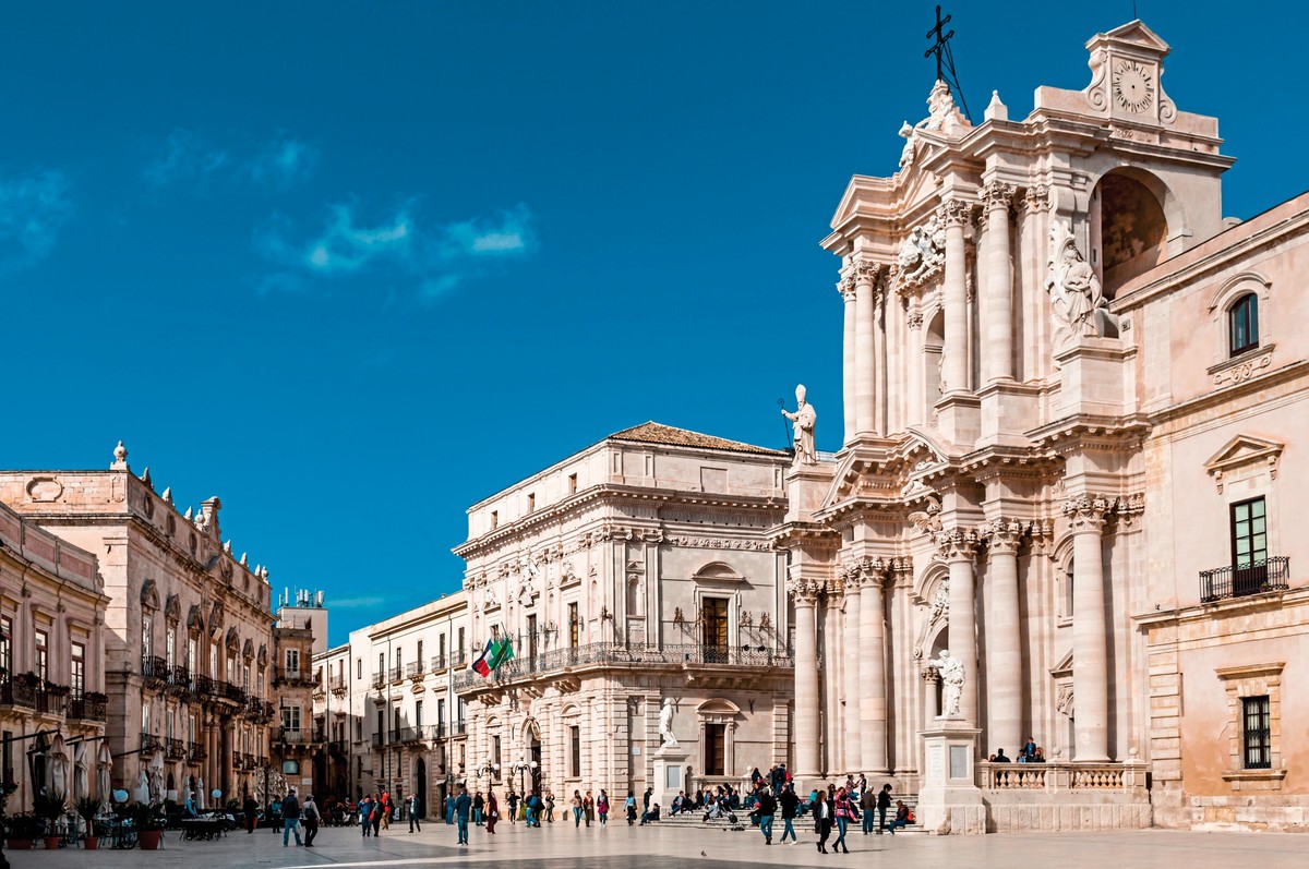
M 467 848 L 454 848 L 454 827 L 424 825 L 421 834 L 406 831 L 363 839 L 356 828 L 330 828 L 318 835 L 312 851 L 281 847 L 281 836 L 260 830 L 238 832 L 217 842 L 179 842 L 168 834 L 165 849 L 86 852 L 65 848 L 5 852 L 16 869 L 141 869 L 144 866 L 425 866 L 493 864 L 513 869 L 720 869 L 741 864 L 788 865 L 884 865 L 895 869 L 971 869 L 974 866 L 1058 866 L 1059 869 L 1228 869 L 1257 865 L 1259 869 L 1309 865 L 1309 836 L 1253 832 L 1179 832 L 1140 830 L 1089 834 L 1007 834 L 990 836 L 864 836 L 850 839 L 850 855 L 817 853 L 812 831 L 798 845 L 766 847 L 758 832 L 726 832 L 721 828 L 598 826 L 575 830 L 572 825 L 526 830 L 501 825 L 493 838 L 480 828 L 471 831 Z

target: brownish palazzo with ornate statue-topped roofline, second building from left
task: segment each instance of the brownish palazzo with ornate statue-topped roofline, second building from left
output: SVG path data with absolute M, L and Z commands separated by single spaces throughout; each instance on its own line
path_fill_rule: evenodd
M 0 501 L 99 559 L 114 787 L 258 792 L 275 726 L 268 573 L 223 541 L 219 499 L 179 512 L 119 444 L 107 471 L 0 471 Z

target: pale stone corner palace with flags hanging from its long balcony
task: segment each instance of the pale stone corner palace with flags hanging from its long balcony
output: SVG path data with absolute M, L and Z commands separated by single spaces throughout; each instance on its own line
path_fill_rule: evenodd
M 787 453 L 647 423 L 469 509 L 454 690 L 479 785 L 609 793 L 740 784 L 789 756 Z M 677 746 L 664 750 L 661 709 Z

